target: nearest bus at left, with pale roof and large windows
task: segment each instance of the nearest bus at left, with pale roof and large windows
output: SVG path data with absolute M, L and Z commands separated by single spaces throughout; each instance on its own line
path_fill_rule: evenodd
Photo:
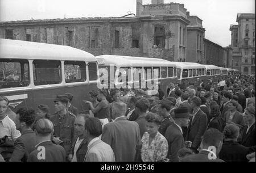
M 21 107 L 47 104 L 54 111 L 56 95 L 70 92 L 72 104 L 83 111 L 82 100 L 97 89 L 96 58 L 83 50 L 30 41 L 0 39 L 0 95 L 16 112 Z

